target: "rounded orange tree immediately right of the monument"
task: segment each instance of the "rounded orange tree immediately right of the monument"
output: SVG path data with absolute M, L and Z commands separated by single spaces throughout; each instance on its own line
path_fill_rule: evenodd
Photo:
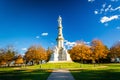
M 69 50 L 70 56 L 73 61 L 89 60 L 91 55 L 90 46 L 85 45 L 83 42 L 78 43 L 71 50 Z

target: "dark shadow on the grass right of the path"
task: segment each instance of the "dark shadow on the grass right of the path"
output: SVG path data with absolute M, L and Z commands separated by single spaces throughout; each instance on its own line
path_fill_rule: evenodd
M 75 80 L 120 80 L 120 70 L 71 70 Z

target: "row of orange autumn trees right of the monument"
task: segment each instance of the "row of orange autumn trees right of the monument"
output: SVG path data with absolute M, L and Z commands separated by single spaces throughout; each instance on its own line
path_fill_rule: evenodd
M 90 45 L 80 41 L 69 53 L 73 61 L 81 63 L 120 62 L 120 41 L 110 49 L 98 39 L 93 40 Z

